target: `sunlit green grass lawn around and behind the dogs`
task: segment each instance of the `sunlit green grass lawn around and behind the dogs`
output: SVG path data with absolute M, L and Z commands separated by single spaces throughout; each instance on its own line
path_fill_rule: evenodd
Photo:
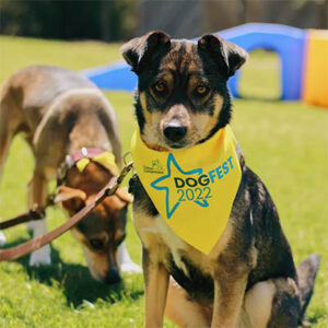
M 0 37 L 0 83 L 32 63 L 51 63 L 73 70 L 119 59 L 119 45 L 62 43 Z M 234 102 L 233 128 L 248 165 L 260 175 L 280 212 L 295 262 L 317 253 L 323 256 L 316 290 L 307 314 L 313 327 L 328 327 L 328 110 L 302 103 L 282 103 L 278 59 L 257 51 L 242 74 L 242 94 Z M 124 150 L 134 127 L 132 97 L 106 93 L 117 110 Z M 26 184 L 33 157 L 19 137 L 5 163 L 0 187 L 0 220 L 26 209 Z M 50 229 L 66 214 L 47 211 Z M 26 241 L 25 226 L 5 232 L 9 245 Z M 140 262 L 140 243 L 128 224 L 128 248 Z M 125 276 L 109 288 L 94 281 L 81 247 L 70 233 L 51 245 L 52 265 L 28 268 L 27 258 L 0 263 L 0 327 L 142 327 L 142 277 Z M 175 327 L 168 320 L 165 327 Z

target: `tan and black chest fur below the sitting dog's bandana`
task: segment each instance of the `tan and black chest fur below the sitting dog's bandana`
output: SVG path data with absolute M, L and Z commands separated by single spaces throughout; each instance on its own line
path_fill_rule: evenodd
M 132 179 L 132 184 L 133 222 L 143 247 L 150 253 L 150 260 L 163 262 L 169 274 L 188 291 L 191 297 L 211 300 L 213 297 L 213 262 L 227 244 L 231 236 L 230 225 L 218 241 L 213 251 L 204 255 L 184 242 L 166 224 L 138 177 Z

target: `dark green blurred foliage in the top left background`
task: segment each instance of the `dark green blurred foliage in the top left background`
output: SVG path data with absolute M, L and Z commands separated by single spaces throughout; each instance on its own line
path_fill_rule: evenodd
M 134 4 L 133 0 L 0 0 L 0 33 L 117 40 L 132 34 Z

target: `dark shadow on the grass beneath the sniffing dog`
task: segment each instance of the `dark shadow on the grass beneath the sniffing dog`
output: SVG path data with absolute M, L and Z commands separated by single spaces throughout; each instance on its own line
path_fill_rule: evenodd
M 26 242 L 26 238 L 19 238 L 8 243 L 3 248 L 17 246 Z M 124 281 L 115 285 L 108 285 L 94 280 L 87 267 L 81 265 L 65 263 L 60 259 L 59 251 L 50 245 L 51 265 L 30 267 L 30 256 L 24 256 L 15 261 L 26 270 L 31 279 L 48 285 L 58 285 L 63 290 L 68 306 L 79 307 L 85 300 L 94 303 L 97 298 L 106 302 L 118 302 L 121 298 L 137 300 L 143 295 L 143 290 L 126 286 Z

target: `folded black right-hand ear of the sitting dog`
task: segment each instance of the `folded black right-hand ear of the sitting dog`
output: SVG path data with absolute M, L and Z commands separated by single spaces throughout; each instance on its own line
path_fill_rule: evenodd
M 198 47 L 212 56 L 220 72 L 226 78 L 232 77 L 248 58 L 246 50 L 212 34 L 202 36 Z

